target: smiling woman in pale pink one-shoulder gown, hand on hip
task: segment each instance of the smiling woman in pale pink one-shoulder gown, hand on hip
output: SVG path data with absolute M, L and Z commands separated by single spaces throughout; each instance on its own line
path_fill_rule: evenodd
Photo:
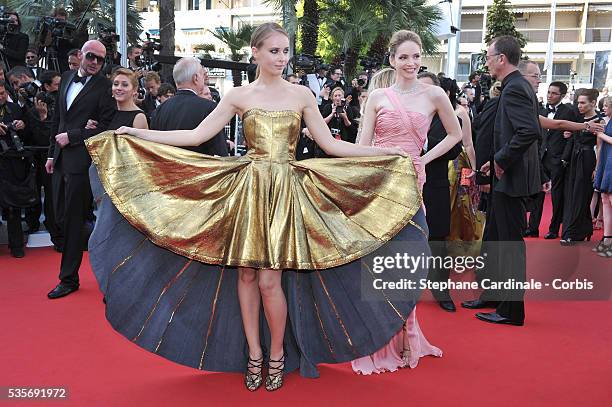
M 400 147 L 412 158 L 422 190 L 425 165 L 461 141 L 461 126 L 442 88 L 419 83 L 417 79 L 421 66 L 419 36 L 411 31 L 398 31 L 391 38 L 389 50 L 389 62 L 396 72 L 395 82 L 368 95 L 359 143 Z M 421 156 L 436 113 L 447 136 Z M 415 308 L 387 346 L 370 356 L 353 360 L 352 366 L 361 374 L 395 371 L 401 367 L 416 367 L 419 358 L 426 355 L 442 356 L 442 351 L 432 346 L 421 332 Z

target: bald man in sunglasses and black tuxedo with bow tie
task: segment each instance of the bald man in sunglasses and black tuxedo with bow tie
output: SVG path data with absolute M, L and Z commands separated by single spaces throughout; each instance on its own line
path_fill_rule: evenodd
M 53 196 L 58 224 L 63 226 L 64 245 L 60 283 L 48 294 L 50 299 L 66 296 L 79 288 L 79 267 L 83 258 L 86 221 L 93 221 L 88 170 L 91 158 L 84 141 L 105 130 L 116 104 L 111 83 L 100 75 L 106 48 L 101 42 L 87 41 L 78 71 L 62 75 L 55 106 L 49 158 L 45 165 L 53 173 Z M 98 122 L 96 129 L 85 129 L 87 120 Z M 86 236 L 86 234 L 85 234 Z

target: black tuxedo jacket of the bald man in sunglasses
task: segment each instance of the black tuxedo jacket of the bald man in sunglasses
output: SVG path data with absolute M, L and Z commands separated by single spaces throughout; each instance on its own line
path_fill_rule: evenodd
M 49 157 L 54 165 L 66 173 L 87 174 L 91 158 L 84 141 L 108 128 L 113 119 L 117 105 L 111 97 L 111 83 L 102 75 L 94 75 L 87 81 L 81 92 L 66 109 L 66 94 L 77 71 L 67 71 L 62 75 L 58 100 L 55 103 L 55 115 L 51 131 Z M 98 122 L 95 129 L 85 129 L 87 120 Z M 64 148 L 55 143 L 55 136 L 68 133 L 69 144 Z

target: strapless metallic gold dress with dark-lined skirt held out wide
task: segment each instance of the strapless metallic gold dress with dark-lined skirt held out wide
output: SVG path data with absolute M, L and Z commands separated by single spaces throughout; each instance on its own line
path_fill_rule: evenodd
M 295 161 L 300 119 L 246 111 L 243 157 L 112 132 L 86 141 L 99 208 L 89 256 L 116 331 L 183 365 L 244 372 L 236 266 L 283 270 L 286 371 L 316 377 L 318 363 L 371 354 L 401 330 L 420 290 L 373 281 L 417 281 L 427 270 L 377 274 L 372 264 L 399 250 L 429 253 L 412 161 Z

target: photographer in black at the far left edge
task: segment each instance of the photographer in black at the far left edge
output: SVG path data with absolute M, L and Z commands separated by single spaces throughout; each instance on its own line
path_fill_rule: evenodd
M 0 81 L 0 206 L 7 221 L 11 255 L 20 258 L 25 255 L 21 208 L 33 203 L 35 192 L 27 188 L 32 164 L 23 151 L 18 133 L 25 128 L 21 109 L 7 101 L 6 87 L 6 82 Z

